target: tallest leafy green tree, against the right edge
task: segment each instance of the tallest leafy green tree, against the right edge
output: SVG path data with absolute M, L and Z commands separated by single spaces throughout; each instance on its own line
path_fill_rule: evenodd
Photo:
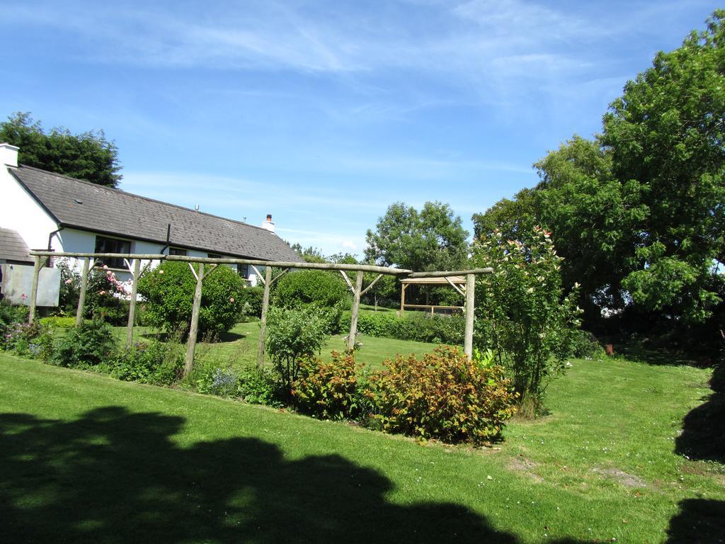
M 602 144 L 622 184 L 641 187 L 634 271 L 623 286 L 653 310 L 708 314 L 725 263 L 725 11 L 660 52 L 604 116 Z

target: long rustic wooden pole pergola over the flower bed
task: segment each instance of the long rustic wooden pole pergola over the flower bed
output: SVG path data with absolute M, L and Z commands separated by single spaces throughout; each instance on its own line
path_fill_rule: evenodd
M 123 259 L 126 266 L 128 267 L 131 275 L 133 276 L 133 286 L 131 288 L 129 310 L 128 310 L 128 325 L 127 325 L 127 345 L 130 347 L 133 345 L 133 325 L 136 316 L 136 289 L 138 277 L 145 271 L 154 260 L 179 260 L 188 263 L 191 272 L 194 273 L 196 278 L 196 289 L 194 291 L 194 305 L 191 310 L 191 323 L 189 326 L 188 341 L 186 344 L 186 364 L 184 374 L 191 372 L 194 368 L 194 353 L 196 350 L 196 336 L 199 331 L 199 311 L 202 306 L 202 283 L 205 277 L 208 277 L 214 272 L 218 265 L 225 264 L 241 264 L 249 265 L 257 271 L 260 279 L 262 275 L 257 267 L 265 267 L 264 278 L 262 283 L 264 284 L 265 291 L 262 297 L 262 316 L 260 320 L 260 339 L 257 345 L 257 364 L 262 365 L 264 363 L 265 355 L 265 331 L 267 322 L 267 310 L 269 308 L 270 300 L 270 287 L 272 284 L 279 279 L 284 273 L 291 269 L 315 269 L 315 270 L 328 270 L 328 271 L 339 271 L 347 281 L 347 285 L 352 291 L 352 318 L 350 319 L 350 332 L 347 336 L 347 348 L 352 349 L 355 345 L 355 335 L 357 334 L 357 318 L 360 315 L 360 296 L 364 294 L 368 289 L 373 287 L 376 282 L 381 279 L 384 275 L 390 276 L 403 276 L 406 279 L 436 279 L 436 282 L 440 283 L 452 283 L 449 281 L 450 278 L 463 278 L 465 277 L 465 338 L 463 342 L 463 351 L 465 355 L 470 358 L 473 354 L 473 310 L 474 310 L 474 299 L 473 295 L 475 292 L 475 280 L 476 275 L 483 273 L 492 273 L 492 268 L 475 268 L 473 270 L 466 271 L 450 271 L 450 272 L 413 272 L 402 268 L 392 268 L 387 266 L 376 266 L 376 265 L 348 265 L 338 263 L 292 263 L 292 262 L 278 262 L 270 260 L 254 260 L 254 259 L 233 259 L 233 258 L 221 258 L 221 257 L 187 257 L 186 255 L 127 255 L 124 253 L 73 253 L 73 252 L 54 252 L 54 251 L 30 251 L 30 255 L 33 256 L 34 269 L 33 269 L 33 285 L 30 291 L 30 311 L 28 313 L 28 322 L 33 323 L 36 317 L 36 300 L 38 296 L 38 279 L 40 277 L 41 267 L 46 263 L 49 257 L 70 257 L 75 259 L 83 260 L 83 273 L 80 282 L 80 296 L 78 297 L 78 309 L 75 313 L 75 323 L 78 325 L 83 321 L 83 305 L 86 300 L 86 289 L 88 287 L 88 275 L 89 269 L 92 265 L 95 265 L 96 260 L 104 258 L 120 258 Z M 143 271 L 141 270 L 141 261 L 146 261 Z M 193 264 L 197 263 L 198 268 L 194 268 Z M 209 265 L 210 269 L 205 267 Z M 274 278 L 272 277 L 272 269 L 281 268 L 281 272 L 278 273 Z M 345 272 L 355 272 L 355 284 L 350 281 Z M 368 287 L 363 289 L 363 274 L 365 272 L 377 273 L 376 279 L 370 282 Z M 442 281 L 440 281 L 442 279 Z M 405 280 L 404 280 L 405 281 Z M 459 292 L 462 292 L 460 288 L 457 288 Z M 463 294 L 463 293 L 462 293 Z

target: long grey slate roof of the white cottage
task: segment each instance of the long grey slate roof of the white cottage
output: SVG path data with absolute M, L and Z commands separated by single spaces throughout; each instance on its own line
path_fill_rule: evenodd
M 9 170 L 59 226 L 166 244 L 167 225 L 171 223 L 170 245 L 174 247 L 302 262 L 279 236 L 261 227 L 30 166 Z

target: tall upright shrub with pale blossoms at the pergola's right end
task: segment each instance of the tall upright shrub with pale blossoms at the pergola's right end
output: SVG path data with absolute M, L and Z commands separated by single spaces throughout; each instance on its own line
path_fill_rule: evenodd
M 578 284 L 565 296 L 550 233 L 536 227 L 527 243 L 494 233 L 473 245 L 473 264 L 493 268 L 476 281 L 476 344 L 508 366 L 520 411 L 534 416 L 547 380 L 564 371 L 579 326 Z

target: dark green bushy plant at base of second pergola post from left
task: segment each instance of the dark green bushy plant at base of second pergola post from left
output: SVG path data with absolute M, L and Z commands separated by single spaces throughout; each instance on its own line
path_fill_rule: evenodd
M 107 323 L 99 319 L 83 321 L 59 339 L 51 361 L 70 367 L 109 365 L 115 347 L 112 329 Z

